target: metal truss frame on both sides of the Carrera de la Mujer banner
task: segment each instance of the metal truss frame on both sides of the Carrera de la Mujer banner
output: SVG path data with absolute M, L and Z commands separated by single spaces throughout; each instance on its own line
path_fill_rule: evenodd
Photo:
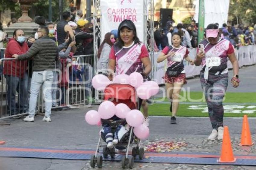
M 101 5 L 100 5 L 101 0 L 93 0 L 92 3 L 92 11 L 93 11 L 93 44 L 94 44 L 94 73 L 97 74 L 97 63 L 98 63 L 98 38 L 103 38 L 101 37 L 101 29 L 100 26 L 97 23 L 97 18 L 100 18 L 102 20 L 102 13 L 101 13 Z M 150 77 L 152 80 L 154 80 L 154 71 L 155 71 L 155 56 L 154 56 L 154 11 L 155 11 L 155 6 L 154 6 L 154 0 L 143 0 L 143 22 L 144 22 L 144 39 L 143 39 L 143 44 L 148 49 L 149 56 L 151 59 L 151 64 L 152 64 L 152 71 L 150 74 Z M 149 21 L 149 27 L 147 28 L 147 21 Z M 99 33 L 96 35 L 95 34 L 95 28 L 99 28 Z M 150 41 L 148 41 L 147 37 L 150 37 Z M 99 92 L 98 90 L 95 90 L 95 103 L 100 103 L 101 100 L 99 99 L 98 96 Z

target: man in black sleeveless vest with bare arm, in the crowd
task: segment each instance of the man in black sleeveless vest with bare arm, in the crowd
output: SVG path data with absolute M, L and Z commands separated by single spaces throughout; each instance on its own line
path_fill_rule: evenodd
M 57 35 L 58 35 L 58 44 L 62 44 L 65 42 L 65 39 L 67 37 L 67 33 L 69 35 L 69 38 L 71 40 L 72 37 L 74 37 L 73 30 L 70 25 L 68 25 L 68 22 L 71 20 L 71 15 L 69 11 L 65 11 L 63 13 L 63 20 L 59 21 L 57 24 Z M 70 41 L 71 42 L 71 41 Z

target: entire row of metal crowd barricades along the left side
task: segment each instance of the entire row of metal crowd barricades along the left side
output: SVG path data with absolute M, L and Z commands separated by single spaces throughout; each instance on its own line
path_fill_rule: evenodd
M 73 61 L 72 61 L 73 60 Z M 94 90 L 91 80 L 94 75 L 93 55 L 73 56 L 55 62 L 52 83 L 52 108 L 73 108 L 76 105 L 92 104 Z M 28 114 L 33 60 L 2 58 L 0 66 L 0 119 Z M 21 69 L 20 65 L 23 65 Z M 11 71 L 11 75 L 7 74 Z M 15 89 L 15 90 L 14 90 Z M 15 91 L 15 92 L 14 92 Z M 37 113 L 44 112 L 44 95 L 41 87 L 38 95 Z

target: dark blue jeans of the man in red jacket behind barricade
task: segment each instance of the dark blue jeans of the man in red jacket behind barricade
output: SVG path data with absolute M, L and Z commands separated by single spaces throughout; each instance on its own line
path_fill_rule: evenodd
M 28 110 L 28 75 L 24 73 L 23 78 L 5 75 L 7 81 L 7 104 L 10 115 L 15 113 L 26 113 Z M 18 95 L 18 104 L 16 106 L 15 95 Z

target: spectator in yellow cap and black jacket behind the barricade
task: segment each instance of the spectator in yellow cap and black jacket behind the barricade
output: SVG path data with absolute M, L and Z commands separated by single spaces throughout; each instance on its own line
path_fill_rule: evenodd
M 77 28 L 75 29 L 76 55 L 83 55 L 85 53 L 83 41 L 87 38 L 93 38 L 92 33 L 84 32 L 86 23 L 88 21 L 82 19 L 77 21 Z

